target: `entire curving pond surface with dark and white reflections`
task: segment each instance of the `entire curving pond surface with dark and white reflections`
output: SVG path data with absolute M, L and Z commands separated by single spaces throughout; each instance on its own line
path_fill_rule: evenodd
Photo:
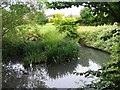
M 39 64 L 25 68 L 23 62 L 11 60 L 3 64 L 3 88 L 77 88 L 97 79 L 75 76 L 73 71 L 97 70 L 109 55 L 87 47 L 80 48 L 78 60 L 65 64 Z

